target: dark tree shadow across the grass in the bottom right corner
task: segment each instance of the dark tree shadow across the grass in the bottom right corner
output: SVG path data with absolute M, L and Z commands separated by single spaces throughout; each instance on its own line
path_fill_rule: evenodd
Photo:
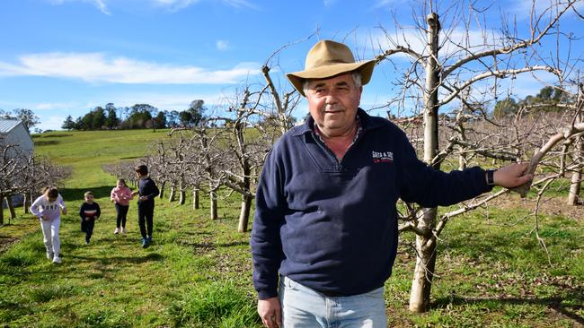
M 546 306 L 547 308 L 552 308 L 558 314 L 561 314 L 578 324 L 584 324 L 584 318 L 578 315 L 577 311 L 584 308 L 582 306 L 582 298 L 584 298 L 584 289 L 581 287 L 564 289 L 567 295 L 572 295 L 573 298 L 562 298 L 561 296 L 552 296 L 549 298 L 473 298 L 473 297 L 460 297 L 452 296 L 446 298 L 438 298 L 436 301 L 432 302 L 431 308 L 443 308 L 447 305 L 463 306 L 468 304 L 484 305 L 489 306 L 489 303 L 496 302 L 501 305 L 536 305 L 536 306 Z M 571 301 L 574 306 L 563 306 L 562 301 Z

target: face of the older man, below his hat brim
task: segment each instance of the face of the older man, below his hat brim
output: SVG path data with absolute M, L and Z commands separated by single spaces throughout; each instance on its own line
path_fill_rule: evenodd
M 308 82 L 305 94 L 310 115 L 325 137 L 352 131 L 361 91 L 363 87 L 355 87 L 351 73 Z

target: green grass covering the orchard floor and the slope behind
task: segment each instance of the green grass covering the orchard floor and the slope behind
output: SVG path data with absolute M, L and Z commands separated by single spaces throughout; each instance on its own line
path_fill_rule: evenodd
M 155 242 L 147 249 L 139 246 L 135 204 L 128 213 L 128 235 L 112 234 L 115 210 L 108 196 L 115 178 L 102 172 L 102 164 L 142 156 L 149 142 L 165 137 L 164 131 L 48 135 L 35 138 L 37 151 L 74 168 L 63 190 L 70 209 L 61 223 L 63 263 L 53 265 L 45 258 L 39 223 L 22 211 L 11 225 L 0 228 L 0 240 L 19 239 L 0 253 L 0 323 L 260 326 L 251 284 L 249 233 L 236 232 L 236 196 L 220 203 L 221 219 L 215 221 L 208 220 L 206 199 L 197 211 L 158 200 Z M 102 206 L 89 246 L 84 245 L 77 219 L 85 190 L 93 190 Z M 584 209 L 580 216 L 574 211 L 576 217 L 542 217 L 540 235 L 550 251 L 550 265 L 532 231 L 533 219 L 525 218 L 529 201 L 509 197 L 511 201 L 491 204 L 488 211 L 473 211 L 448 223 L 439 244 L 431 309 L 423 315 L 407 310 L 415 254 L 409 246 L 412 235 L 401 237 L 394 276 L 385 284 L 392 326 L 584 324 Z

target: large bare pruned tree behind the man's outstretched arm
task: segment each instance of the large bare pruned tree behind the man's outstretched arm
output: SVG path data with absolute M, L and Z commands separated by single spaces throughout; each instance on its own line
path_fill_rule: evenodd
M 480 155 L 499 160 L 525 160 L 528 153 L 522 152 L 518 146 L 498 153 L 472 149 L 472 145 L 465 145 L 465 130 L 461 126 L 468 119 L 468 114 L 481 116 L 485 112 L 481 104 L 488 104 L 489 97 L 497 99 L 500 96 L 503 79 L 515 78 L 523 73 L 545 71 L 558 76 L 562 83 L 564 72 L 571 70 L 572 63 L 565 59 L 569 58 L 569 54 L 562 54 L 565 56 L 563 59 L 544 57 L 542 44 L 566 36 L 561 33 L 559 22 L 576 1 L 553 2 L 539 11 L 534 2 L 526 31 L 517 30 L 511 22 L 507 22 L 500 27 L 499 32 L 486 30 L 488 21 L 482 17 L 483 9 L 475 8 L 473 2 L 448 3 L 447 8 L 439 14 L 437 3 L 430 1 L 422 9 L 425 13 L 416 16 L 419 21 L 415 35 L 400 24 L 396 24 L 398 30 L 394 34 L 385 33 L 390 46 L 380 46 L 381 54 L 376 56 L 377 62 L 389 60 L 402 67 L 395 64 L 394 56 L 400 54 L 400 59 L 403 55 L 410 59 L 409 68 L 397 81 L 403 92 L 391 105 L 396 107 L 398 113 L 411 113 L 413 108 L 413 113 L 420 113 L 423 117 L 423 138 L 420 140 L 423 143 L 423 160 L 433 168 L 440 169 L 440 165 L 455 149 L 458 153 L 465 152 L 466 157 Z M 481 38 L 478 42 L 472 37 L 473 22 L 480 30 Z M 458 27 L 464 27 L 464 30 L 457 29 Z M 425 46 L 416 47 L 413 43 L 415 39 Z M 558 53 L 556 55 L 559 56 Z M 456 118 L 458 137 L 456 141 L 447 142 L 447 146 L 440 149 L 440 110 L 456 108 L 455 103 L 461 104 L 458 106 L 460 111 Z M 464 158 L 459 160 L 465 162 Z M 470 211 L 483 202 L 484 200 L 463 205 L 457 212 Z M 417 234 L 417 261 L 411 287 L 410 309 L 413 312 L 424 312 L 429 306 L 438 237 L 454 213 L 443 215 L 438 220 L 436 208 L 414 209 L 412 205 L 407 207 L 411 209 L 408 213 L 410 219 L 406 220 L 401 230 L 411 230 Z

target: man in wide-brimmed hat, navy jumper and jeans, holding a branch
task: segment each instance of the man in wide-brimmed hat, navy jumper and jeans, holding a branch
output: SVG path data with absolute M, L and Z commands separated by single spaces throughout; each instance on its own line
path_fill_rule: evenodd
M 323 40 L 308 52 L 304 71 L 287 75 L 310 117 L 274 144 L 258 186 L 253 284 L 267 327 L 385 327 L 398 198 L 450 205 L 532 178 L 526 164 L 429 168 L 403 131 L 358 108 L 374 66 Z

